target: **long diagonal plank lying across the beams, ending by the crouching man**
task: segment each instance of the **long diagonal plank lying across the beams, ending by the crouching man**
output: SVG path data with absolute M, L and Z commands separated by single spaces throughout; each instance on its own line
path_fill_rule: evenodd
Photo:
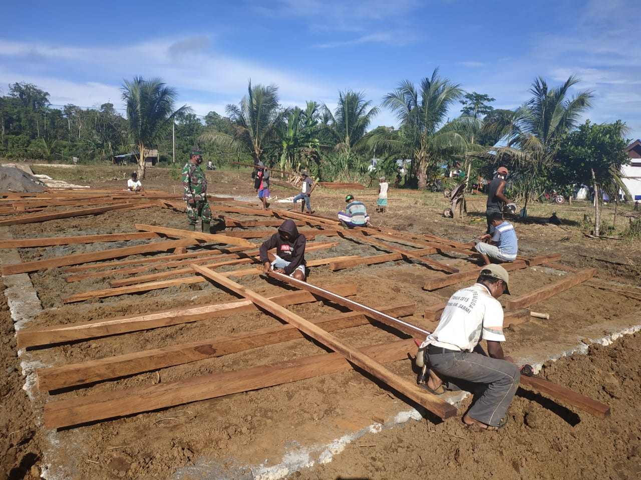
M 423 406 L 424 408 L 427 408 L 430 412 L 435 413 L 442 419 L 447 419 L 456 415 L 456 407 L 454 407 L 453 405 L 443 401 L 442 399 L 429 392 L 426 392 L 426 390 L 423 390 L 418 385 L 416 385 L 414 381 L 408 381 L 390 372 L 382 364 L 374 360 L 374 358 L 365 355 L 358 349 L 351 348 L 344 342 L 338 340 L 333 335 L 330 335 L 329 333 L 322 330 L 322 328 L 319 328 L 303 317 L 290 312 L 289 310 L 287 310 L 287 308 L 281 307 L 277 303 L 268 300 L 262 295 L 259 295 L 256 292 L 253 292 L 243 287 L 242 285 L 237 284 L 236 282 L 232 282 L 228 278 L 219 275 L 215 271 L 197 265 L 192 265 L 192 268 L 194 269 L 194 271 L 197 271 L 201 275 L 210 278 L 210 280 L 213 280 L 217 284 L 222 285 L 223 287 L 226 287 L 227 289 L 230 289 L 231 291 L 244 296 L 245 298 L 256 303 L 256 305 L 260 305 L 260 307 L 265 308 L 265 310 L 278 316 L 280 319 L 287 321 L 287 323 L 293 324 L 303 333 L 310 335 L 325 346 L 328 346 L 337 353 L 343 355 L 347 360 L 349 360 L 350 363 L 356 365 L 357 367 L 360 367 L 379 380 L 387 383 L 387 385 L 394 388 L 397 392 L 400 392 L 404 396 L 412 399 L 413 401 Z M 287 278 L 290 277 L 287 276 Z

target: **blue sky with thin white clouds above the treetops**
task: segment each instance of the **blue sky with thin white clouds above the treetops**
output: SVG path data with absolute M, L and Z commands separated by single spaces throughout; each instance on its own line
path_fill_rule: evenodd
M 0 92 L 18 81 L 52 104 L 122 107 L 123 79 L 161 77 L 197 115 L 238 104 L 247 83 L 276 84 L 285 106 L 334 108 L 338 92 L 376 105 L 439 68 L 494 108 L 516 108 L 533 80 L 570 75 L 593 90 L 593 122 L 641 138 L 641 33 L 633 0 L 237 0 L 6 2 Z M 451 117 L 459 114 L 457 104 Z M 396 125 L 386 109 L 372 127 Z

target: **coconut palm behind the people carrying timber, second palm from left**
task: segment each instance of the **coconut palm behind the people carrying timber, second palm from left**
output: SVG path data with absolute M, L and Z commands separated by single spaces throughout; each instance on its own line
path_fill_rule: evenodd
M 280 108 L 278 86 L 251 86 L 251 81 L 240 104 L 230 104 L 225 111 L 234 127 L 233 134 L 207 131 L 200 139 L 244 150 L 253 157 L 254 164 L 262 160 L 263 149 L 269 141 L 276 139 L 277 125 L 290 113 L 289 109 Z

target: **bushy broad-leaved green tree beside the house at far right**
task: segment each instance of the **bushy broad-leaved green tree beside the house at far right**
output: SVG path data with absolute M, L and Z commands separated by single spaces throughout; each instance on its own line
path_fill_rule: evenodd
M 560 141 L 556 180 L 560 184 L 594 185 L 598 199 L 600 191 L 611 198 L 618 198 L 622 189 L 629 198 L 629 191 L 621 179 L 621 166 L 628 163 L 624 137 L 628 127 L 620 120 L 613 124 L 591 124 L 587 120 Z M 599 202 L 595 202 L 594 234 L 599 235 Z

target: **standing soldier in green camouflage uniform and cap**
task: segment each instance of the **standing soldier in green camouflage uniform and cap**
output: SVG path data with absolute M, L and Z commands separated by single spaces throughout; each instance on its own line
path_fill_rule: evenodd
M 201 152 L 192 151 L 189 161 L 183 168 L 183 199 L 187 202 L 187 230 L 194 232 L 198 217 L 203 221 L 203 232 L 210 233 L 212 210 L 207 202 L 207 179 L 200 165 L 203 163 Z

